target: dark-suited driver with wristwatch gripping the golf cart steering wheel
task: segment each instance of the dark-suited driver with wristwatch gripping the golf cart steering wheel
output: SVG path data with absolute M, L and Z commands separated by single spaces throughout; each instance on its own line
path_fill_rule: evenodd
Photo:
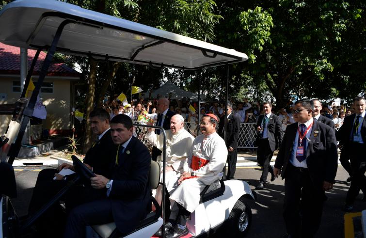
M 67 220 L 65 238 L 85 237 L 85 226 L 115 222 L 119 232 L 131 232 L 151 209 L 148 185 L 151 156 L 146 146 L 132 136 L 131 119 L 124 114 L 111 120 L 115 144 L 111 177 L 96 175 L 91 185 L 105 198 L 75 207 Z

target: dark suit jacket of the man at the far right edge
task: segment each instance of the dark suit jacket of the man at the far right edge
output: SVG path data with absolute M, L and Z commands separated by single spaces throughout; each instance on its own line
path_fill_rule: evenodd
M 354 119 L 356 118 L 356 113 L 346 116 L 343 121 L 342 127 L 336 132 L 337 140 L 340 145 L 348 146 L 350 144 L 350 136 L 352 133 Z M 366 143 L 366 116 L 361 126 L 361 137 L 364 143 Z

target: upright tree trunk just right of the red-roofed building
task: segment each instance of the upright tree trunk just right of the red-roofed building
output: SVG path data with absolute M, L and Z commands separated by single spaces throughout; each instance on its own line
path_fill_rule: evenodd
M 95 98 L 95 80 L 96 80 L 96 62 L 93 59 L 89 59 L 89 75 L 88 75 L 88 94 L 86 97 L 86 124 L 84 133 L 84 142 L 82 145 L 82 153 L 86 154 L 90 146 L 94 141 L 92 129 L 89 122 L 89 114 L 94 109 L 94 98 Z

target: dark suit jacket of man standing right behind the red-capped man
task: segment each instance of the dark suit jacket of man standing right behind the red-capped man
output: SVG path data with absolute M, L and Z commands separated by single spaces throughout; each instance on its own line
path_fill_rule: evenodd
M 224 131 L 224 122 L 225 118 L 222 117 L 219 123 L 219 135 L 223 138 Z M 234 149 L 238 148 L 238 137 L 240 130 L 240 117 L 238 114 L 231 113 L 227 118 L 227 127 L 226 127 L 226 147 L 233 147 Z

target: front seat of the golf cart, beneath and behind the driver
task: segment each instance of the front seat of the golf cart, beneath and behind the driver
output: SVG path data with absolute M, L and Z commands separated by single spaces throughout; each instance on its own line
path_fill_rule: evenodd
M 157 189 L 159 186 L 159 180 L 160 180 L 160 166 L 159 163 L 151 160 L 151 166 L 150 166 L 150 174 L 149 174 L 149 184 L 151 189 Z M 146 218 L 141 220 L 138 224 L 138 226 L 129 234 L 140 230 L 154 222 L 158 222 L 160 216 L 161 216 L 161 207 L 158 204 L 158 202 L 155 200 L 154 197 L 151 197 L 151 200 L 156 207 L 156 210 L 153 212 L 150 212 L 147 214 Z M 150 206 L 150 205 L 149 205 Z M 162 225 L 159 224 L 157 226 L 157 230 Z M 92 228 L 95 230 L 95 232 L 101 237 L 101 238 L 117 238 L 121 237 L 120 233 L 116 227 L 116 224 L 114 222 L 103 224 L 103 225 L 93 225 Z M 156 231 L 154 231 L 152 234 L 154 234 Z M 128 236 L 127 234 L 126 236 Z

